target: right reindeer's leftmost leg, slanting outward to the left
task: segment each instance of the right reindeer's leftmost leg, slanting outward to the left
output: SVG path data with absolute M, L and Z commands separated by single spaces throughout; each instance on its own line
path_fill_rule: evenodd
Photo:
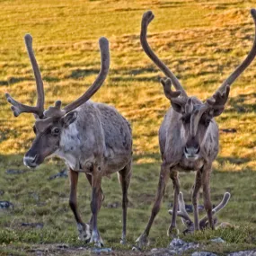
M 138 248 L 142 248 L 146 245 L 146 239 L 149 234 L 151 225 L 154 222 L 154 217 L 158 214 L 161 207 L 161 202 L 163 199 L 169 172 L 170 172 L 169 165 L 162 163 L 161 172 L 160 172 L 159 181 L 158 181 L 158 188 L 156 192 L 156 198 L 154 200 L 154 207 L 152 208 L 151 216 L 146 225 L 146 229 L 144 233 L 137 238 L 136 243 Z

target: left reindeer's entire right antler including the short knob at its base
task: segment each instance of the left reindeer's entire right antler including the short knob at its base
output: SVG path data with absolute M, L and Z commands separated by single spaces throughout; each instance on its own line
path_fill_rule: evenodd
M 64 116 L 66 113 L 75 110 L 77 107 L 82 105 L 84 102 L 87 102 L 94 93 L 96 93 L 100 87 L 102 86 L 103 82 L 105 81 L 109 68 L 110 68 L 110 49 L 109 49 L 109 41 L 106 38 L 101 38 L 99 40 L 100 49 L 101 49 L 101 56 L 102 56 L 102 66 L 101 71 L 99 75 L 97 76 L 94 83 L 91 85 L 91 87 L 75 102 L 72 102 L 66 107 L 63 108 L 63 110 L 60 109 L 61 102 L 57 101 L 55 102 L 54 107 L 49 107 L 48 110 L 44 111 L 44 115 L 46 117 L 61 117 Z

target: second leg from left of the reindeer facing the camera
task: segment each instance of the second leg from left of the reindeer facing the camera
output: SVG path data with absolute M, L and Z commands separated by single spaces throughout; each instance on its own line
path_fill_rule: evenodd
M 178 172 L 171 170 L 170 178 L 172 179 L 173 183 L 173 190 L 174 190 L 174 200 L 173 200 L 173 207 L 172 207 L 172 222 L 168 229 L 167 235 L 168 236 L 176 236 L 176 219 L 177 219 L 177 212 L 178 212 L 178 196 L 180 194 L 180 182 L 178 177 Z

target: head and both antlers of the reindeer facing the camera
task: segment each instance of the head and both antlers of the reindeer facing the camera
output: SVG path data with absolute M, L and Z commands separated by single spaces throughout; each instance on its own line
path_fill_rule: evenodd
M 251 13 L 256 27 L 256 10 L 252 9 Z M 160 82 L 163 84 L 165 96 L 172 104 L 172 109 L 181 114 L 181 135 L 185 141 L 183 148 L 184 155 L 189 160 L 196 160 L 199 157 L 200 146 L 207 134 L 211 120 L 219 116 L 225 109 L 225 102 L 227 102 L 228 99 L 230 85 L 233 84 L 235 79 L 252 63 L 253 58 L 256 56 L 256 37 L 254 38 L 252 49 L 249 55 L 243 60 L 243 63 L 234 70 L 212 97 L 207 99 L 206 102 L 200 102 L 197 98 L 187 95 L 177 77 L 163 64 L 148 45 L 146 40 L 147 26 L 153 19 L 154 14 L 151 11 L 144 13 L 141 22 L 141 45 L 147 56 L 150 57 L 154 64 L 167 76 L 166 79 L 161 79 Z M 176 91 L 172 91 L 172 84 Z

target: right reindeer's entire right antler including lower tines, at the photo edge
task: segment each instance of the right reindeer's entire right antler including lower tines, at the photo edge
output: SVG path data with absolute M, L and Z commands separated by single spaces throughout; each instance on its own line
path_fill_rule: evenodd
M 249 54 L 243 60 L 240 66 L 237 66 L 234 72 L 229 75 L 223 84 L 216 90 L 216 93 L 207 100 L 207 103 L 214 109 L 214 116 L 218 116 L 222 113 L 225 108 L 225 102 L 227 101 L 228 94 L 230 91 L 230 85 L 234 83 L 236 78 L 243 73 L 243 71 L 252 63 L 252 60 L 256 56 L 256 10 L 251 10 L 253 22 L 255 25 L 255 34 L 252 49 Z

